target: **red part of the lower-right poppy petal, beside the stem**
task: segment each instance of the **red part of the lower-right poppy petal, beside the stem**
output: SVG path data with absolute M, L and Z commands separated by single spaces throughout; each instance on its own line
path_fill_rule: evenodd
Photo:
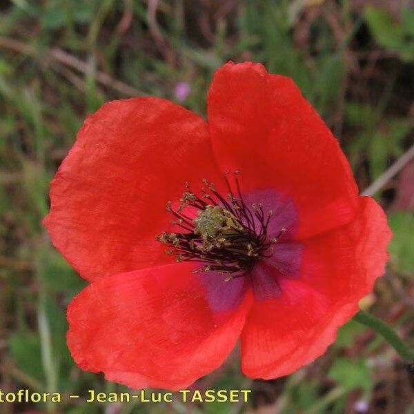
M 353 223 L 304 242 L 302 274 L 278 279 L 279 298 L 255 302 L 242 332 L 249 377 L 287 375 L 322 355 L 384 273 L 386 216 L 371 198 L 359 203 Z

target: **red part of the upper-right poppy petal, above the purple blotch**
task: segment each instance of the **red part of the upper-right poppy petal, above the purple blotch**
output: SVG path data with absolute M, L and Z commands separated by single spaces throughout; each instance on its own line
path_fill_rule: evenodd
M 298 238 L 355 217 L 348 161 L 292 79 L 269 75 L 259 63 L 227 63 L 210 86 L 208 122 L 217 163 L 240 170 L 246 192 L 275 188 L 292 197 Z

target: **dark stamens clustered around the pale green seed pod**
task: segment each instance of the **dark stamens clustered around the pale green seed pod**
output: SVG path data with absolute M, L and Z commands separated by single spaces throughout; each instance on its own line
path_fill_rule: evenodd
M 181 233 L 164 232 L 157 236 L 157 240 L 169 246 L 166 253 L 175 255 L 177 262 L 204 264 L 194 270 L 195 273 L 216 270 L 227 274 L 226 280 L 242 277 L 253 270 L 261 257 L 273 254 L 271 245 L 286 231 L 282 228 L 276 237 L 268 237 L 273 210 L 265 212 L 262 203 L 247 206 L 238 176 L 239 171 L 236 170 L 235 192 L 230 186 L 228 173 L 224 176 L 228 188 L 226 197 L 216 190 L 213 183 L 204 179 L 201 197 L 197 197 L 186 184 L 179 207 L 173 209 L 172 202 L 167 203 L 166 210 L 175 217 L 171 223 L 178 226 Z M 197 210 L 194 218 L 184 213 L 190 207 Z

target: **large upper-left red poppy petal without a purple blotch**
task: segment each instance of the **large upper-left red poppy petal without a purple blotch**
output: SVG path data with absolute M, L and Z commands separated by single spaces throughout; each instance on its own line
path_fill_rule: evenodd
M 86 119 L 50 190 L 53 244 L 89 280 L 172 262 L 155 240 L 186 181 L 215 179 L 208 127 L 156 98 L 106 103 Z

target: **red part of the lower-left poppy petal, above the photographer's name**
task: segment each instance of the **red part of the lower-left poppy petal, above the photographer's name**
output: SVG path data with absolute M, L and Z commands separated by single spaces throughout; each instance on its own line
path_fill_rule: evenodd
M 68 308 L 68 346 L 81 368 L 131 388 L 177 390 L 220 366 L 242 331 L 251 295 L 213 311 L 194 264 L 104 277 Z

